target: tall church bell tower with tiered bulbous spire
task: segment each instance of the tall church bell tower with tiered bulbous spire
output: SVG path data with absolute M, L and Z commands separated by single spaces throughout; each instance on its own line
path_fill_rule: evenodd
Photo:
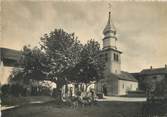
M 111 11 L 109 11 L 108 22 L 103 30 L 103 54 L 106 61 L 105 72 L 120 74 L 121 72 L 121 51 L 117 49 L 116 29 L 111 20 Z

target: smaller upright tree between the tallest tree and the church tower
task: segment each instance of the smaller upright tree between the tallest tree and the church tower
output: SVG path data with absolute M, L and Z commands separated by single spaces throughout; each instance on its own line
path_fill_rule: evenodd
M 88 81 L 98 81 L 102 79 L 104 73 L 105 61 L 101 56 L 102 50 L 100 44 L 93 39 L 89 40 L 81 52 L 81 74 L 87 74 Z M 84 75 L 81 75 L 84 76 Z M 81 77 L 82 78 L 82 77 Z M 85 79 L 87 82 L 87 80 Z

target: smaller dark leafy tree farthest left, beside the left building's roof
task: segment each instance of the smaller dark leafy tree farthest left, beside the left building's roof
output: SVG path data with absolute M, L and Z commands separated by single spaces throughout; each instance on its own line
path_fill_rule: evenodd
M 19 62 L 22 68 L 20 74 L 25 80 L 44 80 L 47 78 L 47 57 L 39 48 L 30 49 L 30 47 L 24 46 Z

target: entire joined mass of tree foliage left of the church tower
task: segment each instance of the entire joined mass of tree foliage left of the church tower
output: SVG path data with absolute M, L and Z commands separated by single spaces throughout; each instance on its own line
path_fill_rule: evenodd
M 48 79 L 58 87 L 68 81 L 88 83 L 103 78 L 104 59 L 100 53 L 97 41 L 83 45 L 74 33 L 55 29 L 41 37 L 40 48 L 23 47 L 20 59 L 23 70 L 14 76 L 25 80 Z

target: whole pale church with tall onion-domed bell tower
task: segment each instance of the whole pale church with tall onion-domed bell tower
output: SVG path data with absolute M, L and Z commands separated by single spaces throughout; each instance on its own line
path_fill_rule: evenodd
M 138 81 L 128 72 L 121 71 L 121 54 L 117 48 L 116 29 L 109 12 L 108 22 L 103 30 L 103 52 L 105 58 L 104 79 L 96 83 L 97 94 L 105 96 L 127 95 L 128 91 L 138 89 Z

